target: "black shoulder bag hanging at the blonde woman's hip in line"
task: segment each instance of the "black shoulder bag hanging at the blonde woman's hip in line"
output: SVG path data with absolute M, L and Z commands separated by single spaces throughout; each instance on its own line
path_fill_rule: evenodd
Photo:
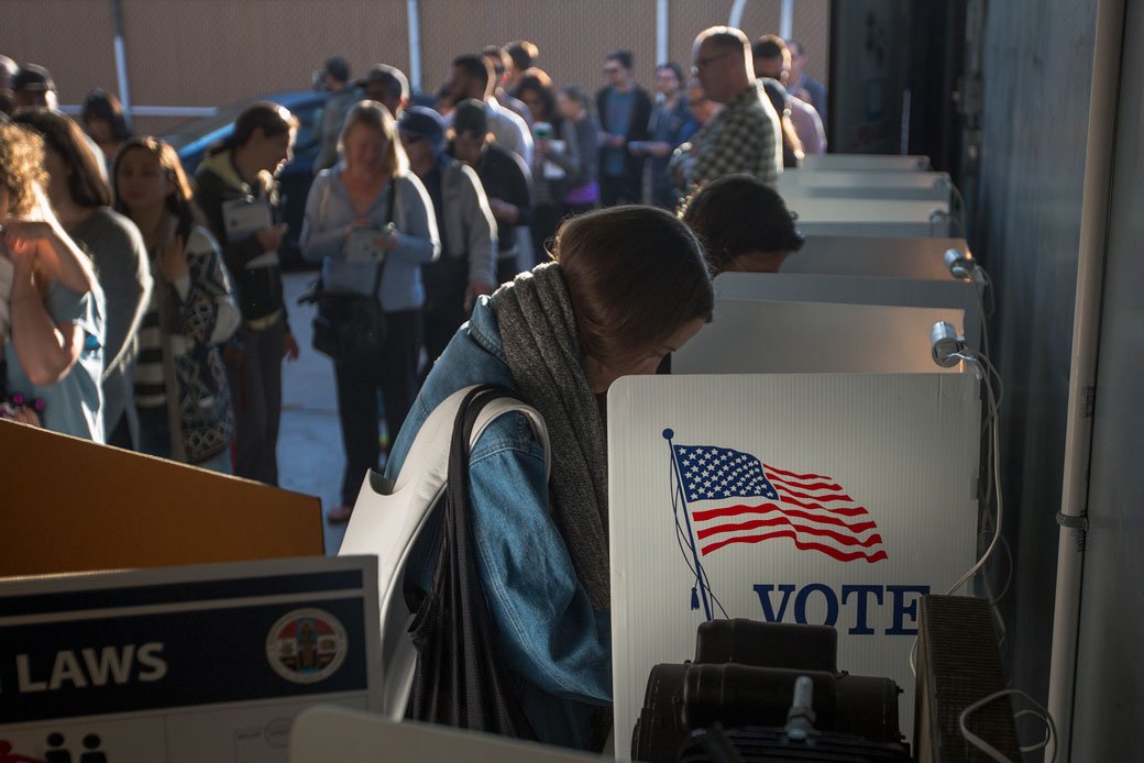
M 397 186 L 390 178 L 387 224 L 394 222 L 396 197 Z M 318 286 L 312 296 L 318 307 L 311 324 L 313 349 L 337 363 L 381 353 L 386 343 L 386 311 L 378 301 L 378 293 L 386 272 L 386 260 L 388 257 L 382 257 L 378 264 L 368 295 Z

